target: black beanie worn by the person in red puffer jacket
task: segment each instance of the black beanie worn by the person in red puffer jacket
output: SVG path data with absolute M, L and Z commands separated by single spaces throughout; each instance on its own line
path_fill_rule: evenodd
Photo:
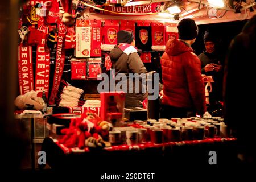
M 193 40 L 197 37 L 198 27 L 193 19 L 187 18 L 181 20 L 177 28 L 179 30 L 179 39 Z

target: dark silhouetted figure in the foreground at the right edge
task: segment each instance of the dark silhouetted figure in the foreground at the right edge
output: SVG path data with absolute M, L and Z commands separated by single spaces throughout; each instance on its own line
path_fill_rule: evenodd
M 238 158 L 256 165 L 256 121 L 254 117 L 256 15 L 230 43 L 224 67 L 225 123 L 238 142 Z

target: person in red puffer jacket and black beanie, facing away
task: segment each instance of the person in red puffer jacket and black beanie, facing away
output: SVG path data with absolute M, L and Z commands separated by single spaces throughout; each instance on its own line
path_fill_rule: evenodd
M 191 111 L 198 115 L 206 111 L 201 62 L 191 48 L 198 34 L 197 25 L 192 19 L 183 19 L 177 28 L 179 39 L 168 40 L 161 58 L 161 118 L 184 118 Z

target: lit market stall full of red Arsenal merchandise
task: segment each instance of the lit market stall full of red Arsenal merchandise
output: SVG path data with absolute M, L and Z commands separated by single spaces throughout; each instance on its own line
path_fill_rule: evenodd
M 205 165 L 210 151 L 218 153 L 220 164 L 230 163 L 237 140 L 221 112 L 210 113 L 221 117 L 159 118 L 159 94 L 149 101 L 147 93 L 141 107 L 125 108 L 126 94 L 112 89 L 113 77 L 107 77 L 110 85 L 104 81 L 113 73 L 110 51 L 120 30 L 132 33 L 150 80 L 151 71 L 161 73 L 160 58 L 167 41 L 178 39 L 181 19 L 197 24 L 243 20 L 255 14 L 254 7 L 255 1 L 221 7 L 193 0 L 28 1 L 19 16 L 15 100 L 15 118 L 25 125 L 32 145 L 28 168 L 38 167 L 39 151 L 46 152 L 52 169 L 96 168 L 101 160 L 118 168 L 120 159 L 148 168 L 167 161 Z

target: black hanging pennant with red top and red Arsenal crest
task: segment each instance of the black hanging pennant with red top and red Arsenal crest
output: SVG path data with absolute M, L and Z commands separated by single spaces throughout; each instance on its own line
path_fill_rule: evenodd
M 151 51 L 152 38 L 149 21 L 138 21 L 135 28 L 135 45 L 142 51 Z

